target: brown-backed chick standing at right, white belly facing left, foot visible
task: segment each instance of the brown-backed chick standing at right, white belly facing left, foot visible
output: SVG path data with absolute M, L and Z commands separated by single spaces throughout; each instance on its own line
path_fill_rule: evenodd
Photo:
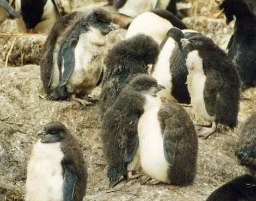
M 182 34 L 180 31 L 179 35 Z M 239 111 L 240 80 L 229 56 L 203 35 L 175 40 L 187 55 L 187 85 L 193 110 L 212 122 L 212 127 L 204 129 L 199 136 L 206 138 L 214 134 L 218 123 L 234 128 Z

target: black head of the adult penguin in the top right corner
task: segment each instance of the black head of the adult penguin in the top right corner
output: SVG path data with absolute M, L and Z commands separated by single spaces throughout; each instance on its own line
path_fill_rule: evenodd
M 253 11 L 245 0 L 222 0 L 218 8 L 220 10 L 224 9 L 227 18 L 231 17 L 230 15 L 235 15 L 236 18 L 254 16 Z

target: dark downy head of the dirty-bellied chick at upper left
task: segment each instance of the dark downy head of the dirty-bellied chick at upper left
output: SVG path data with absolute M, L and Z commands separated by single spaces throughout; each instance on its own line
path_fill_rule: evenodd
M 87 17 L 90 27 L 98 29 L 102 35 L 107 35 L 112 30 L 115 30 L 113 26 L 111 15 L 102 9 L 96 9 Z

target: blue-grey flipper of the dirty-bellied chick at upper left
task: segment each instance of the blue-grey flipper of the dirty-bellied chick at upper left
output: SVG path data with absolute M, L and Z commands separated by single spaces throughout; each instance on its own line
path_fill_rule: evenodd
M 60 53 L 58 56 L 58 67 L 61 70 L 63 65 L 64 70 L 62 72 L 59 86 L 64 86 L 68 82 L 74 71 L 75 47 L 77 42 L 78 41 L 76 39 L 71 39 L 69 42 L 64 43 L 64 45 L 60 49 Z

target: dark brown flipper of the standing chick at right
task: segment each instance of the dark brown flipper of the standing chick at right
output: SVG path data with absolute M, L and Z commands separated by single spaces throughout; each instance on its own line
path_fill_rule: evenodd
M 223 85 L 221 73 L 211 70 L 207 73 L 204 83 L 204 103 L 205 109 L 210 116 L 216 114 L 216 101 L 220 87 Z

